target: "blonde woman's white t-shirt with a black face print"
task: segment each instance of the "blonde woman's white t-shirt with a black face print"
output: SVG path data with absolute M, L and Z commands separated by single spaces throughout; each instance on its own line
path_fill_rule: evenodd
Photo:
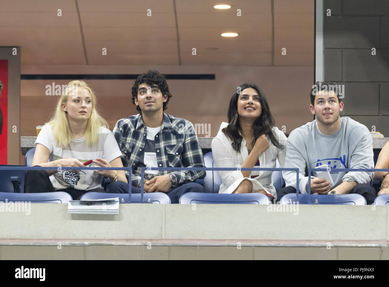
M 82 163 L 96 158 L 103 158 L 110 162 L 117 157 L 121 157 L 121 151 L 112 132 L 104 127 L 99 127 L 98 132 L 98 139 L 92 146 L 89 146 L 85 141 L 85 137 L 82 137 L 81 139 L 72 139 L 66 147 L 61 148 L 54 140 L 51 127 L 45 125 L 35 141 L 35 146 L 39 143 L 46 146 L 50 151 L 47 162 L 60 158 L 77 158 Z M 103 176 L 93 170 L 80 170 L 80 172 L 60 170 L 50 176 L 50 180 L 56 190 L 70 187 L 76 190 L 88 191 L 102 188 Z

